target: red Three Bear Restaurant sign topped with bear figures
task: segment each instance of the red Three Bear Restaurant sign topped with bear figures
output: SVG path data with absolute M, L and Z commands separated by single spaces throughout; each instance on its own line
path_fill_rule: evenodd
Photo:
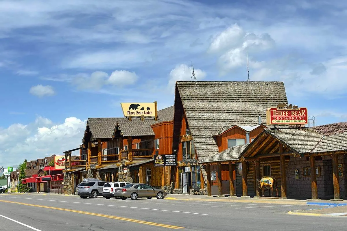
M 308 123 L 307 108 L 277 104 L 266 110 L 267 125 L 302 125 Z

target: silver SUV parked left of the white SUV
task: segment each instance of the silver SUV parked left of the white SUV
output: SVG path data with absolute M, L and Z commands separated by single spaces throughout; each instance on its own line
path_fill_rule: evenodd
M 102 188 L 106 182 L 94 178 L 83 179 L 78 186 L 77 194 L 81 198 L 102 196 Z

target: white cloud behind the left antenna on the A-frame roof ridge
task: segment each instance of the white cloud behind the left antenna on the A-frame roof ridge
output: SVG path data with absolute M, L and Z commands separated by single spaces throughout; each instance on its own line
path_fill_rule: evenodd
M 169 83 L 168 88 L 171 93 L 175 93 L 175 84 L 176 81 L 180 80 L 191 80 L 194 81 L 194 77 L 192 78 L 192 69 L 185 66 L 184 64 L 177 65 L 175 69 L 172 69 L 169 74 Z M 194 69 L 196 80 L 203 80 L 206 77 L 206 72 L 201 69 Z

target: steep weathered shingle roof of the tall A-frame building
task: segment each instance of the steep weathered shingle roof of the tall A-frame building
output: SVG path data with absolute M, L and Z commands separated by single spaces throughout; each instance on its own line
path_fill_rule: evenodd
M 266 109 L 288 103 L 283 82 L 177 81 L 200 161 L 218 153 L 212 135 L 224 127 L 253 126 Z M 177 94 L 177 92 L 176 92 Z

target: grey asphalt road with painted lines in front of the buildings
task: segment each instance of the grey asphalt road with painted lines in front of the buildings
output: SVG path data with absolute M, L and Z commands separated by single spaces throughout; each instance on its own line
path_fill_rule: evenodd
M 121 201 L 102 197 L 82 199 L 77 196 L 37 194 L 0 195 L 0 230 L 340 231 L 346 229 L 347 220 L 341 217 L 286 214 L 292 210 L 312 208 L 318 206 L 166 199 Z

